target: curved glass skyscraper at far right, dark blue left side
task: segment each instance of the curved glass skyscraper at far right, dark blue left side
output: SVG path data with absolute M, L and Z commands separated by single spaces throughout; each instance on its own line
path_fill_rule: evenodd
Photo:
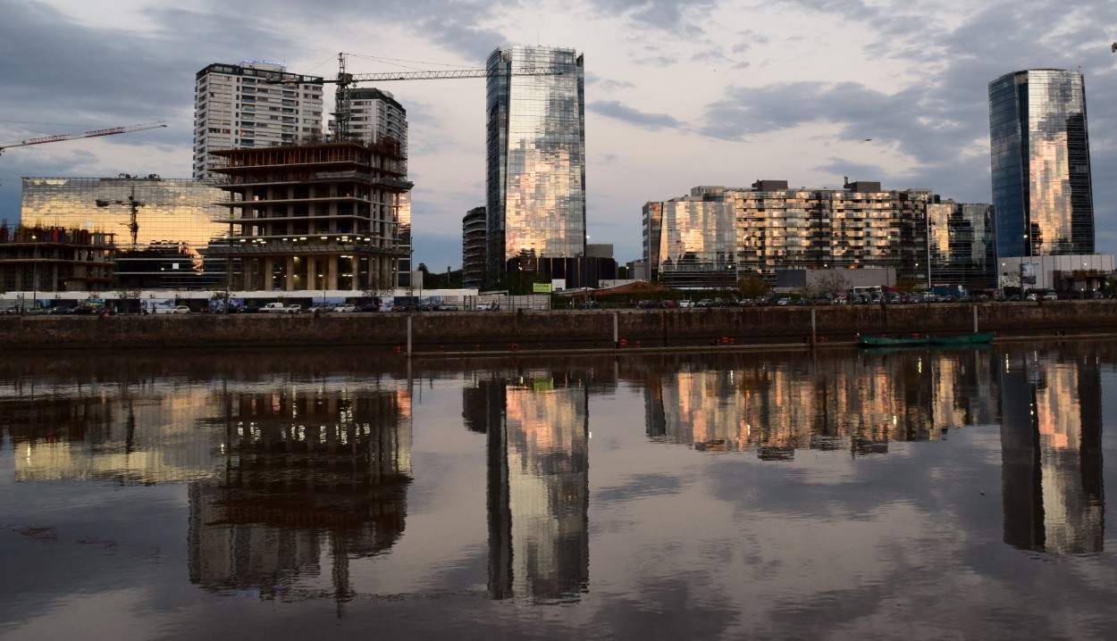
M 1094 253 L 1082 75 L 1005 74 L 989 84 L 999 256 Z

